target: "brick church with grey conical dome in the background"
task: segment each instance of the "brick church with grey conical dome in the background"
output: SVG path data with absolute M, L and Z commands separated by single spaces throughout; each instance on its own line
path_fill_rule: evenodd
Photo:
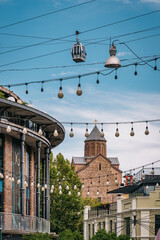
M 72 165 L 82 182 L 82 197 L 98 198 L 104 203 L 116 200 L 107 191 L 122 182 L 118 158 L 107 157 L 106 142 L 95 125 L 85 140 L 84 157 L 72 157 Z

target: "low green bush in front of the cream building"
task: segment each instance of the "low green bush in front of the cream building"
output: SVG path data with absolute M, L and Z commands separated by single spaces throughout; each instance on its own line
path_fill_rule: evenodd
M 107 233 L 105 229 L 98 230 L 91 240 L 118 240 L 115 233 Z

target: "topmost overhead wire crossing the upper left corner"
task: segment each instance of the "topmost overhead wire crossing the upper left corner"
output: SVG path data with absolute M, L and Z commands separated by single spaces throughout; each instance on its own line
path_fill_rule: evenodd
M 18 22 L 10 23 L 10 24 L 4 25 L 4 26 L 0 26 L 0 29 L 11 27 L 11 26 L 21 24 L 21 23 L 24 23 L 24 22 L 28 22 L 28 21 L 31 21 L 31 20 L 35 20 L 37 18 L 46 17 L 48 15 L 55 14 L 55 13 L 58 13 L 58 12 L 62 12 L 62 11 L 65 11 L 65 10 L 69 10 L 71 8 L 79 7 L 79 6 L 94 2 L 94 1 L 96 1 L 96 0 L 90 0 L 90 1 L 87 1 L 87 2 L 83 2 L 83 3 L 72 5 L 72 6 L 69 6 L 69 7 L 66 7 L 66 8 L 62 8 L 62 9 L 59 9 L 59 10 L 56 10 L 56 11 L 44 13 L 44 14 L 41 14 L 41 15 L 38 15 L 38 16 L 35 16 L 35 17 L 27 18 L 27 19 L 24 19 L 24 20 L 21 20 L 21 21 L 18 21 Z

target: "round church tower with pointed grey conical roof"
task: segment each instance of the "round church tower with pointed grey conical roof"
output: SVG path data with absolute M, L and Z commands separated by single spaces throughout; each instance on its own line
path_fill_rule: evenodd
M 101 137 L 101 132 L 95 125 L 85 140 L 84 157 L 87 159 L 87 162 L 97 157 L 99 154 L 107 157 L 106 142 L 106 139 Z

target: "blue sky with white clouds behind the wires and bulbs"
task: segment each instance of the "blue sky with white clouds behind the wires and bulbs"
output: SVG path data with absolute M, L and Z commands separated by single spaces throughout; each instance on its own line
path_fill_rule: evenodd
M 160 10 L 160 0 L 95 0 L 58 11 L 84 2 L 87 1 L 0 0 L 1 85 L 60 79 L 105 70 L 109 45 L 114 40 L 119 40 L 115 45 L 122 66 L 139 61 L 135 55 L 150 56 L 148 59 L 160 56 L 160 12 L 157 11 Z M 57 12 L 12 25 L 53 11 Z M 154 13 L 111 24 L 148 12 Z M 104 27 L 107 24 L 109 26 Z M 150 30 L 134 33 L 146 29 Z M 76 30 L 80 32 L 80 42 L 86 47 L 85 63 L 75 63 L 71 57 Z M 126 35 L 128 33 L 134 34 Z M 65 37 L 68 35 L 70 37 Z M 39 44 L 61 37 L 61 40 Z M 125 42 L 129 48 L 119 42 Z M 26 47 L 35 44 L 38 45 Z M 25 48 L 15 51 L 22 47 Z M 154 61 L 150 62 L 153 67 L 154 64 Z M 44 69 L 47 67 L 52 68 Z M 157 67 L 160 69 L 159 59 Z M 134 137 L 130 136 L 131 124 L 119 124 L 120 137 L 115 137 L 116 122 L 160 119 L 160 72 L 148 65 L 138 65 L 137 76 L 134 71 L 134 65 L 119 68 L 117 80 L 115 72 L 108 76 L 99 74 L 99 84 L 96 84 L 96 74 L 81 77 L 82 96 L 76 95 L 78 78 L 62 81 L 63 99 L 57 97 L 59 81 L 44 83 L 43 93 L 40 91 L 41 84 L 29 84 L 28 95 L 25 94 L 25 86 L 11 87 L 11 90 L 58 121 L 73 122 L 74 137 L 69 137 L 70 125 L 64 125 L 65 140 L 53 149 L 54 156 L 61 152 L 70 161 L 72 156 L 84 156 L 86 126 L 74 125 L 74 122 L 94 123 L 97 120 L 99 129 L 101 122 L 114 123 L 104 125 L 107 157 L 118 157 L 120 168 L 125 171 L 160 160 L 160 122 L 149 122 L 148 136 L 144 134 L 145 123 L 134 124 Z M 108 69 L 104 73 L 107 72 Z M 89 131 L 93 126 L 89 125 Z

